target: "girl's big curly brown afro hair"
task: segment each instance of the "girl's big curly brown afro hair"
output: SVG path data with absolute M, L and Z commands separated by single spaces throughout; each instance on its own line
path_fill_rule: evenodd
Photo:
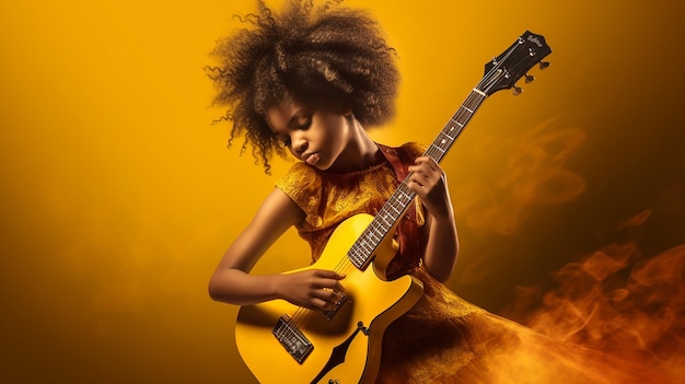
M 340 0 L 341 1 L 341 0 Z M 258 13 L 241 18 L 251 27 L 218 42 L 207 67 L 218 91 L 213 104 L 232 121 L 229 147 L 236 136 L 269 173 L 274 153 L 286 156 L 266 124 L 266 113 L 287 97 L 325 100 L 351 108 L 364 126 L 388 121 L 395 114 L 399 74 L 395 50 L 367 12 L 312 0 L 288 0 L 274 14 L 258 0 Z

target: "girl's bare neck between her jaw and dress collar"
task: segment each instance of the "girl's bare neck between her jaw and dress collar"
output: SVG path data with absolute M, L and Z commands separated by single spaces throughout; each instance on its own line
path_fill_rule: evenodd
M 329 172 L 348 173 L 365 170 L 383 161 L 383 153 L 353 115 L 348 117 L 347 128 L 347 146 L 328 168 Z

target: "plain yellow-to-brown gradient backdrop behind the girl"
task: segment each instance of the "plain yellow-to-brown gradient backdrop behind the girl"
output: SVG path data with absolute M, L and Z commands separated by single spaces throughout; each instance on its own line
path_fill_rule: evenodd
M 554 50 L 521 96 L 486 101 L 443 163 L 463 246 L 449 284 L 462 296 L 499 312 L 515 286 L 648 209 L 635 234 L 646 255 L 685 242 L 681 3 L 347 4 L 370 9 L 399 54 L 397 118 L 371 131 L 390 144 L 429 143 L 525 30 Z M 236 309 L 206 286 L 289 163 L 267 176 L 225 148 L 202 67 L 253 8 L 0 4 L 1 382 L 251 382 Z M 307 260 L 290 232 L 257 269 Z

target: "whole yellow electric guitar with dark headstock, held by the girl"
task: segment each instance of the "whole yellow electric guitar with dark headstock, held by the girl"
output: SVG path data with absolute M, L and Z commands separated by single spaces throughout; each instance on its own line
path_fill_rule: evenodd
M 450 118 L 425 155 L 440 162 L 485 98 L 512 89 L 552 49 L 541 35 L 525 32 L 504 53 L 485 65 L 485 75 Z M 245 305 L 239 311 L 235 341 L 259 383 L 373 383 L 386 327 L 420 298 L 423 287 L 411 277 L 387 281 L 395 255 L 392 237 L 414 199 L 407 176 L 374 217 L 357 214 L 334 231 L 321 258 L 303 269 L 347 275 L 345 293 L 333 310 L 314 311 L 283 300 Z M 300 270 L 303 270 L 300 269 Z

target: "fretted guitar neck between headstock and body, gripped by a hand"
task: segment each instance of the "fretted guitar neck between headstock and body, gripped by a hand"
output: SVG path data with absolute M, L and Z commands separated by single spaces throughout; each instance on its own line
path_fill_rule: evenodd
M 487 95 L 484 92 L 474 89 L 426 152 L 423 152 L 423 155 L 430 156 L 440 163 L 486 97 Z M 357 268 L 363 270 L 369 266 L 376 247 L 407 211 L 407 208 L 409 208 L 409 203 L 416 196 L 407 186 L 410 176 L 411 174 L 409 173 L 404 178 L 371 224 L 348 251 L 348 258 Z

